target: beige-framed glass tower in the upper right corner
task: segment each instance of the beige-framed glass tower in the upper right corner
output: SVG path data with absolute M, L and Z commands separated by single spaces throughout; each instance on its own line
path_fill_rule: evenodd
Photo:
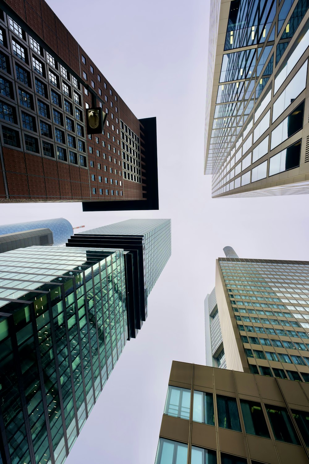
M 309 193 L 308 8 L 211 2 L 204 173 L 215 198 Z

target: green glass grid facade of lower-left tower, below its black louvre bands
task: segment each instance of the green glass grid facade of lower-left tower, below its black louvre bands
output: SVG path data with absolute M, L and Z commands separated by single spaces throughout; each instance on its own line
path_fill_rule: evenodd
M 123 251 L 42 248 L 0 256 L 1 311 L 13 314 L 0 320 L 2 433 L 14 464 L 64 462 L 127 337 Z

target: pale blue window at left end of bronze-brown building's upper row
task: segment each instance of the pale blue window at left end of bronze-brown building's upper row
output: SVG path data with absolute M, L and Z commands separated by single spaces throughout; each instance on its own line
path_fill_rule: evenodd
M 169 385 L 164 414 L 189 419 L 191 390 Z

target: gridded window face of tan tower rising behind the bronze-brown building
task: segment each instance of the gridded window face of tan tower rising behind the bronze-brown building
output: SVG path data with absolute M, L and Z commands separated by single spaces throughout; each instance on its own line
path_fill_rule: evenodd
M 309 263 L 219 262 L 251 372 L 309 382 Z

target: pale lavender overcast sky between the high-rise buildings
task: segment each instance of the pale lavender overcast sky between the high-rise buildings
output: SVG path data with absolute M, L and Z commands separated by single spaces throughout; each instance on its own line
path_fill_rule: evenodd
M 308 196 L 211 199 L 203 175 L 209 0 L 48 0 L 138 118 L 157 117 L 159 211 L 83 213 L 81 203 L 3 204 L 0 224 L 63 217 L 83 231 L 170 218 L 172 255 L 66 464 L 154 463 L 172 360 L 205 364 L 215 259 L 309 260 Z M 79 232 L 79 231 L 76 231 Z

